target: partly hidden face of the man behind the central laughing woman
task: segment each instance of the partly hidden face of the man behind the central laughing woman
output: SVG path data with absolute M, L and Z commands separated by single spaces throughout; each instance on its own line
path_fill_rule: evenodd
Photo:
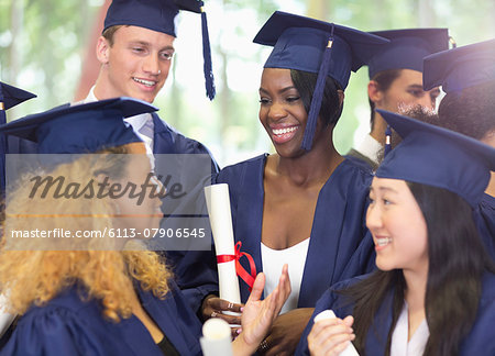
M 415 105 L 433 110 L 439 94 L 439 88 L 428 91 L 422 90 L 422 74 L 420 71 L 403 69 L 388 90 L 383 92 L 382 100 L 375 104 L 377 109 L 393 112 L 399 112 L 399 109 Z

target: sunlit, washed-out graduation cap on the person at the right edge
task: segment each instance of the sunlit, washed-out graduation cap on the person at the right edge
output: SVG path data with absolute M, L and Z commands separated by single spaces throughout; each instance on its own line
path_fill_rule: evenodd
M 443 91 L 495 80 L 495 40 L 436 53 L 425 58 L 425 90 L 442 86 Z

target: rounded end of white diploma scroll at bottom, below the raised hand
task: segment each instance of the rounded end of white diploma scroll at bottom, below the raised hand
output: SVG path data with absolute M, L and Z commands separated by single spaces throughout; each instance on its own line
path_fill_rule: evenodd
M 199 340 L 205 356 L 232 356 L 230 326 L 219 318 L 208 319 L 202 325 L 202 337 Z

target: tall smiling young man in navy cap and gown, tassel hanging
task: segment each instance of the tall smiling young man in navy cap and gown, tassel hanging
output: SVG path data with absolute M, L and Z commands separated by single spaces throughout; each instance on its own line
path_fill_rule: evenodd
M 170 69 L 176 38 L 175 19 L 179 10 L 201 13 L 206 91 L 208 98 L 212 100 L 215 84 L 207 19 L 202 5 L 204 1 L 200 0 L 113 0 L 105 19 L 102 35 L 97 43 L 97 57 L 101 63 L 100 73 L 85 102 L 125 96 L 152 103 L 164 86 Z M 127 121 L 144 141 L 146 151 L 155 155 L 155 171 L 158 175 L 166 170 L 167 173 L 163 175 L 166 177 L 168 171 L 173 170 L 175 176 L 178 175 L 179 177 L 178 182 L 185 187 L 187 185 L 194 187 L 196 183 L 202 182 L 205 178 L 204 169 L 188 166 L 186 162 L 188 158 L 182 158 L 187 157 L 184 154 L 208 155 L 206 157 L 209 157 L 211 163 L 211 170 L 210 164 L 207 165 L 208 178 L 211 173 L 219 170 L 215 158 L 206 146 L 182 135 L 161 120 L 156 113 L 136 115 L 127 119 Z M 176 158 L 170 158 L 170 154 L 174 154 Z M 157 155 L 161 155 L 161 157 Z M 202 216 L 206 212 L 201 200 L 202 190 L 191 191 L 186 188 L 185 191 L 189 192 L 185 199 L 200 194 L 199 202 L 186 202 L 187 208 L 182 208 L 180 202 L 166 199 L 162 207 L 165 214 L 172 215 L 170 219 L 163 222 L 166 229 L 174 231 L 190 229 L 193 231 L 202 229 L 205 223 L 209 224 L 206 219 L 190 218 L 185 222 L 185 219 L 174 218 L 191 212 L 195 214 L 199 212 L 199 215 Z M 191 208 L 193 204 L 196 205 Z M 187 227 L 185 227 L 186 225 Z M 201 274 L 208 270 L 208 268 L 197 267 L 198 259 L 209 260 L 210 258 L 202 254 L 209 254 L 210 251 L 196 252 L 189 249 L 206 249 L 211 248 L 211 245 L 189 247 L 186 246 L 189 242 L 187 238 L 175 238 L 173 242 L 169 238 L 166 242 L 170 242 L 170 245 L 155 246 L 154 248 L 167 249 L 166 255 L 168 262 L 175 266 L 177 282 L 180 288 L 190 289 L 191 307 L 196 310 L 199 308 L 204 294 L 210 291 L 210 289 L 207 289 L 198 292 L 194 287 L 198 280 L 201 280 L 200 283 L 204 285 Z M 198 240 L 190 240 L 190 242 L 197 244 Z M 207 279 L 210 280 L 210 276 Z M 189 296 L 189 293 L 186 294 Z

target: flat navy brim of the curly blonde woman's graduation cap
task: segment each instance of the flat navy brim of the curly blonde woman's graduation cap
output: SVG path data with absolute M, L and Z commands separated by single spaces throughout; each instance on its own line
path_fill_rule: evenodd
M 36 131 L 42 124 L 59 116 L 79 112 L 81 109 L 84 109 L 84 111 L 119 110 L 122 113 L 123 118 L 134 116 L 141 113 L 154 112 L 158 110 L 156 107 L 138 99 L 125 97 L 113 98 L 94 101 L 90 103 L 61 105 L 45 112 L 31 114 L 0 126 L 0 133 L 36 142 Z

